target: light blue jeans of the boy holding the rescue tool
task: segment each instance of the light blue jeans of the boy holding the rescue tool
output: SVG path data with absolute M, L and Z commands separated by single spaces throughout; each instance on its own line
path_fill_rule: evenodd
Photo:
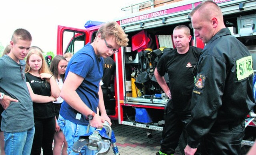
M 59 115 L 58 118 L 58 125 L 63 131 L 65 139 L 68 143 L 68 155 L 79 155 L 79 153 L 72 151 L 72 146 L 76 141 L 78 141 L 79 136 L 86 134 L 87 126 L 73 123 L 68 119 L 64 119 L 61 115 Z M 90 127 L 89 132 L 94 130 L 94 127 Z M 95 155 L 95 151 L 89 150 L 87 146 L 85 146 L 80 153 L 81 155 Z

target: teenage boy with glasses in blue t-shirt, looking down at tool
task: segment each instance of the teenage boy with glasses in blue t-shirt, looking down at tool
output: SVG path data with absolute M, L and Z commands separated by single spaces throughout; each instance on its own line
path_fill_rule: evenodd
M 72 151 L 72 145 L 80 135 L 86 134 L 89 123 L 96 128 L 102 128 L 104 121 L 111 125 L 100 88 L 104 58 L 117 53 L 121 46 L 127 46 L 128 41 L 120 25 L 109 22 L 100 27 L 94 42 L 86 44 L 70 59 L 60 93 L 64 102 L 58 118 L 68 143 L 68 154 L 78 155 Z M 97 107 L 101 115 L 96 114 Z M 95 153 L 85 147 L 81 154 Z

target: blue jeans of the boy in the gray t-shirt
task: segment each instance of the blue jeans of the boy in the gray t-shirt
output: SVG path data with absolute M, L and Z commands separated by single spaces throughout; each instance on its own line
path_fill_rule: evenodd
M 4 132 L 6 155 L 29 155 L 32 148 L 35 127 L 24 132 Z

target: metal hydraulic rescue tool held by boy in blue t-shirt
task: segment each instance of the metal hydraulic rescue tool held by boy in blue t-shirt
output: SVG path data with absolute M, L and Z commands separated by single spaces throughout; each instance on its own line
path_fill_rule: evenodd
M 88 149 L 96 151 L 96 155 L 104 155 L 108 153 L 110 146 L 112 145 L 114 155 L 119 155 L 114 131 L 112 131 L 112 128 L 107 121 L 103 123 L 103 128 L 97 128 L 90 133 L 89 129 L 90 124 L 87 127 L 86 134 L 80 136 L 78 141 L 74 143 L 72 147 L 74 152 L 80 153 L 82 148 L 87 146 Z

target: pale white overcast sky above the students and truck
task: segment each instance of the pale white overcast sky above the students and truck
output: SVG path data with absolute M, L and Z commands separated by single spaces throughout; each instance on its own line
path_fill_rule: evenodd
M 146 0 L 143 0 L 146 1 Z M 112 21 L 127 12 L 121 8 L 137 0 L 0 0 L 0 45 L 10 43 L 12 33 L 24 28 L 32 46 L 56 53 L 57 26 L 84 29 L 88 20 Z

